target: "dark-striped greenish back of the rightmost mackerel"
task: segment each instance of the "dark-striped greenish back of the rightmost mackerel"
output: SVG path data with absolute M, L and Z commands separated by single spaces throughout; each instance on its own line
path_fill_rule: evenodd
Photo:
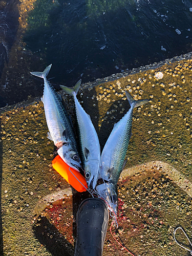
M 122 172 L 123 162 L 124 162 L 127 148 L 131 138 L 132 118 L 133 118 L 133 110 L 130 114 L 129 120 L 127 121 L 124 136 L 122 136 L 122 144 L 119 143 L 119 148 L 116 149 L 116 153 L 118 153 L 118 159 L 116 161 L 116 164 L 114 164 L 114 171 L 112 172 L 112 175 L 110 177 L 110 182 L 112 182 L 113 184 L 117 184 L 120 174 Z

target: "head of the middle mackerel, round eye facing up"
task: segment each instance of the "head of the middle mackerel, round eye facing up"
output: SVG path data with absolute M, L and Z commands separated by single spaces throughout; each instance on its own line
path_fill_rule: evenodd
M 88 187 L 92 186 L 93 189 L 96 187 L 99 170 L 100 163 L 98 160 L 89 160 L 84 163 L 84 177 Z

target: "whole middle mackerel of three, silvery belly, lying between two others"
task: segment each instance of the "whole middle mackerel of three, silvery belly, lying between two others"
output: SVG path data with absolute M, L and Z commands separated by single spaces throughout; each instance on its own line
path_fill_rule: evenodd
M 84 176 L 88 187 L 92 186 L 94 189 L 101 167 L 100 144 L 90 116 L 83 110 L 77 100 L 76 95 L 80 85 L 81 80 L 75 84 L 74 88 L 60 87 L 74 98 Z

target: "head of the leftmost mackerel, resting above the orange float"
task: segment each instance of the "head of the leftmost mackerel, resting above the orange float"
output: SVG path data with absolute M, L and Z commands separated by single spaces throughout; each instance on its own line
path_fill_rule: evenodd
M 81 160 L 77 151 L 74 151 L 69 143 L 61 146 L 58 151 L 58 155 L 62 160 L 67 163 L 70 167 L 76 169 L 78 172 L 82 169 Z

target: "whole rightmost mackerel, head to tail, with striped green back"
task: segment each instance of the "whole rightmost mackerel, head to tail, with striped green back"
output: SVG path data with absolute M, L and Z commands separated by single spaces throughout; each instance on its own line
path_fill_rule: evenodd
M 126 97 L 131 108 L 124 117 L 114 125 L 104 145 L 101 154 L 102 167 L 99 173 L 99 178 L 101 178 L 104 183 L 96 186 L 96 191 L 110 206 L 110 210 L 115 214 L 115 217 L 118 210 L 117 182 L 127 161 L 125 155 L 132 135 L 133 109 L 149 101 L 146 99 L 136 101 L 128 92 L 126 92 Z

